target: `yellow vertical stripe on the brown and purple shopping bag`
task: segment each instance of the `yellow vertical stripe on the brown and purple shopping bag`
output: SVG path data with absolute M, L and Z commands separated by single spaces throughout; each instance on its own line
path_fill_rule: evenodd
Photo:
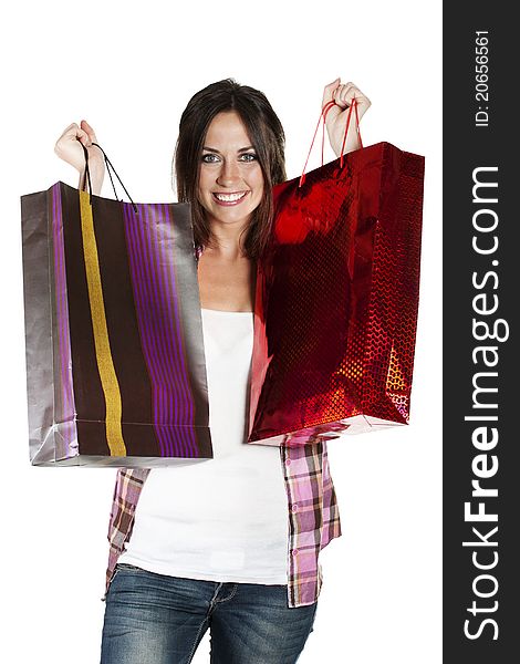
M 101 384 L 106 403 L 106 440 L 111 456 L 126 456 L 126 446 L 123 440 L 121 419 L 123 408 L 121 404 L 119 384 L 112 360 L 108 328 L 106 326 L 105 304 L 101 284 L 100 260 L 94 235 L 94 220 L 92 207 L 86 191 L 80 191 L 81 232 L 83 238 L 83 252 L 85 257 L 86 283 L 89 301 L 91 304 L 92 326 L 94 330 L 94 345 L 100 370 Z

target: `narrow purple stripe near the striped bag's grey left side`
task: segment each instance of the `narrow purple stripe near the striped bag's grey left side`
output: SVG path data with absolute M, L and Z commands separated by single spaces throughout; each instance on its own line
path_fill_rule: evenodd
M 60 183 L 52 187 L 52 238 L 54 248 L 54 286 L 58 328 L 58 347 L 60 357 L 61 413 L 55 413 L 55 421 L 61 423 L 60 435 L 63 436 L 63 452 L 66 457 L 77 453 L 71 452 L 71 445 L 77 448 L 75 427 L 75 403 L 72 382 L 71 338 L 69 330 L 69 304 L 66 301 L 65 249 L 63 243 L 63 215 Z

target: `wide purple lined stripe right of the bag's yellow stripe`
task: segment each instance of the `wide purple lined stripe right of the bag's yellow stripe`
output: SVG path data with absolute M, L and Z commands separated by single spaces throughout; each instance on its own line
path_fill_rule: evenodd
M 197 457 L 189 385 L 173 264 L 168 207 L 123 204 L 132 288 L 143 354 L 153 386 L 153 411 L 162 456 Z

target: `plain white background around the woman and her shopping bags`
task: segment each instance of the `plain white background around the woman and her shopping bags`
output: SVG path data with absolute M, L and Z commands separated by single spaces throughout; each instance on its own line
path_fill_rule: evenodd
M 426 156 L 420 308 L 410 425 L 329 444 L 343 536 L 322 552 L 324 585 L 299 662 L 439 663 L 440 1 L 25 0 L 9 12 L 0 45 L 1 658 L 98 662 L 116 473 L 29 464 L 20 196 L 59 179 L 77 186 L 53 146 L 85 118 L 135 200 L 174 200 L 180 113 L 196 91 L 228 76 L 267 94 L 295 177 L 323 86 L 340 75 L 372 101 L 365 145 L 388 141 Z M 108 178 L 103 195 L 113 196 Z M 208 653 L 207 634 L 194 662 L 209 662 Z

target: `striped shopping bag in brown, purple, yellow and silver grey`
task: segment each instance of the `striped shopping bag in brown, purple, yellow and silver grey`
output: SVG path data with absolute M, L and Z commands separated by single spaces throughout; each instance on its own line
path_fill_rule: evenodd
M 31 463 L 212 457 L 189 205 L 60 181 L 21 216 Z

